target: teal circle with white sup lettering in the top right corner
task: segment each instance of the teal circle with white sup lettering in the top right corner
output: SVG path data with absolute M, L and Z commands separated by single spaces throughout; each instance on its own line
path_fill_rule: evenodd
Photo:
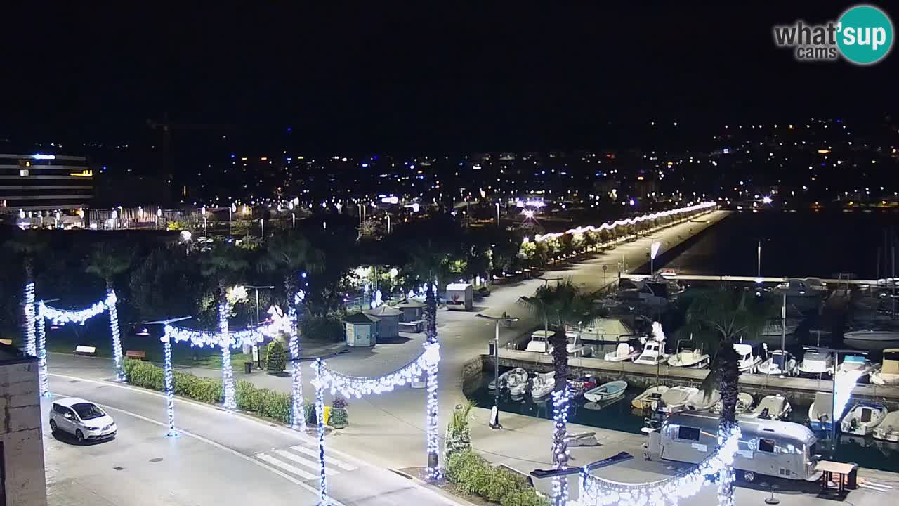
M 877 63 L 893 47 L 893 23 L 877 7 L 856 5 L 843 13 L 838 23 L 837 46 L 852 63 Z

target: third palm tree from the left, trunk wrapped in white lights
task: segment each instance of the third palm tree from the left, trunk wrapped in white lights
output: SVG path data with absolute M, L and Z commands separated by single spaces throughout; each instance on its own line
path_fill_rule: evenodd
M 226 287 L 234 283 L 244 273 L 248 262 L 245 250 L 232 246 L 223 241 L 212 245 L 206 255 L 200 258 L 200 273 L 203 276 L 215 279 L 218 283 L 216 291 L 216 303 L 218 305 L 218 331 L 227 334 L 227 307 Z M 234 398 L 234 371 L 231 369 L 231 347 L 227 341 L 222 341 L 222 399 L 228 409 L 236 408 Z

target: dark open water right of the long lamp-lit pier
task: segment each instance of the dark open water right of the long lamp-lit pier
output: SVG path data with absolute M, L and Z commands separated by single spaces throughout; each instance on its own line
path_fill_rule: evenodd
M 899 232 L 899 212 L 733 212 L 662 260 L 682 274 L 755 276 L 761 239 L 761 276 L 874 279 L 892 272 L 890 227 Z

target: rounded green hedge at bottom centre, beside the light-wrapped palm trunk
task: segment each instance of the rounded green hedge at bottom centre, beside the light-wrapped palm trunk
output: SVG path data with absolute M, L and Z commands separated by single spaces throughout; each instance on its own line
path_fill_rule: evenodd
M 454 453 L 447 458 L 446 476 L 462 492 L 498 502 L 502 506 L 546 506 L 549 503 L 521 475 L 494 467 L 470 450 Z

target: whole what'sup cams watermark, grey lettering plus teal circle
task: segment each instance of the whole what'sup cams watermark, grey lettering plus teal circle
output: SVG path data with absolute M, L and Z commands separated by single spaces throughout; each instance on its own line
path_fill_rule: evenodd
M 893 22 L 873 5 L 855 5 L 836 22 L 807 24 L 798 21 L 774 27 L 774 43 L 793 50 L 800 61 L 846 59 L 871 65 L 893 47 Z

